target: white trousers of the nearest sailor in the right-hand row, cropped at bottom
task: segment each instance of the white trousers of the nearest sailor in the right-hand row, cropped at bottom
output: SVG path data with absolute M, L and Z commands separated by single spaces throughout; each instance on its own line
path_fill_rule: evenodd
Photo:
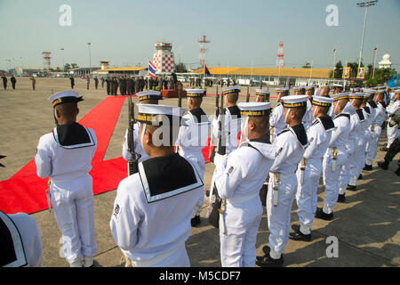
M 259 197 L 256 198 L 260 200 Z M 241 210 L 238 209 L 238 211 Z M 222 267 L 255 266 L 257 232 L 261 216 L 262 213 L 254 216 L 252 221 L 242 228 L 234 228 L 226 223 L 225 233 L 221 232 L 222 227 L 220 226 L 220 263 Z M 220 219 L 221 223 L 223 223 L 222 219 Z

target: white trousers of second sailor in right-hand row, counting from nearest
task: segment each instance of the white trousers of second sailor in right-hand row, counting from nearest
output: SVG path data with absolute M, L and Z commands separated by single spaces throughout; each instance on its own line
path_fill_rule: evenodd
M 269 247 L 278 253 L 283 253 L 291 229 L 292 204 L 297 191 L 296 175 L 293 173 L 279 183 L 277 206 L 274 206 L 273 188 L 273 177 L 270 177 L 267 193 Z

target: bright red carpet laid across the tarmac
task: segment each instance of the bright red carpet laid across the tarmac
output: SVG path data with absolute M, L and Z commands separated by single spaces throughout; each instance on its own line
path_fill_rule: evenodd
M 127 165 L 123 158 L 103 160 L 125 98 L 126 96 L 109 96 L 79 121 L 80 124 L 91 127 L 97 136 L 98 147 L 90 172 L 94 195 L 115 190 L 118 183 L 127 176 Z M 210 162 L 209 143 L 210 139 L 202 151 L 205 163 Z M 32 159 L 10 179 L 0 181 L 0 209 L 7 214 L 32 214 L 47 209 L 47 181 L 48 178 L 41 179 L 36 175 L 36 164 Z

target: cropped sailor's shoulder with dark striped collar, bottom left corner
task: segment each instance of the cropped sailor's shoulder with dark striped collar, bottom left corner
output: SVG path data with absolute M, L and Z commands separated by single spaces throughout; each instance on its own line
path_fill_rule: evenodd
M 42 266 L 42 238 L 33 216 L 0 211 L 0 240 L 0 267 Z

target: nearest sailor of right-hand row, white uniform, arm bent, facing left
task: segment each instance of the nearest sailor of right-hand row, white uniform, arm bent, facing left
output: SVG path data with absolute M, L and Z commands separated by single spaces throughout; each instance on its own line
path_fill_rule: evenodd
M 215 185 L 224 212 L 220 217 L 220 259 L 223 267 L 253 267 L 262 206 L 259 190 L 276 156 L 268 137 L 269 102 L 239 103 L 244 142 L 215 160 Z

